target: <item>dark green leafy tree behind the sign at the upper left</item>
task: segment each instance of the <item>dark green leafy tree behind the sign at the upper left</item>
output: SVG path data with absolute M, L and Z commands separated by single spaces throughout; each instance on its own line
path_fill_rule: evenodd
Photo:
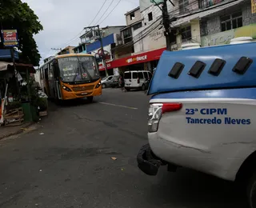
M 38 66 L 41 55 L 37 43 L 34 41 L 34 34 L 43 30 L 38 16 L 30 9 L 27 3 L 21 0 L 0 1 L 0 23 L 2 29 L 18 30 L 19 46 L 22 51 L 20 60 L 25 63 Z M 3 48 L 3 46 L 0 46 Z

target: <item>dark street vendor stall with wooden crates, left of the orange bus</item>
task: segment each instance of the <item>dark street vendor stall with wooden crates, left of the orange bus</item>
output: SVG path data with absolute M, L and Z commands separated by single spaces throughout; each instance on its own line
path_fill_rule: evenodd
M 47 99 L 34 87 L 34 73 L 34 66 L 29 64 L 16 63 L 14 67 L 12 62 L 0 62 L 0 96 L 4 102 L 0 122 L 5 126 L 38 122 L 39 109 L 46 109 Z

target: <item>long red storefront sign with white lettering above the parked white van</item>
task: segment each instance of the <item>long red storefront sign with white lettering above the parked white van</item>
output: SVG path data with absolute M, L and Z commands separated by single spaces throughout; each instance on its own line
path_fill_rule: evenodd
M 130 56 L 126 58 L 119 58 L 112 62 L 106 62 L 106 69 L 109 70 L 109 69 L 118 68 L 121 66 L 130 66 L 138 63 L 151 62 L 154 60 L 158 60 L 161 57 L 162 52 L 164 50 L 166 50 L 166 48 L 151 50 L 146 53 L 136 54 L 134 56 Z M 105 70 L 102 64 L 99 65 L 99 70 Z

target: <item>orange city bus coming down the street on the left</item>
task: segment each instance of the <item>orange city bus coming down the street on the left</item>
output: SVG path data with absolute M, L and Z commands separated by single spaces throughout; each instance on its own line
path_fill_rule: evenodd
M 90 54 L 63 54 L 39 68 L 40 85 L 48 98 L 70 100 L 102 94 L 98 64 Z

